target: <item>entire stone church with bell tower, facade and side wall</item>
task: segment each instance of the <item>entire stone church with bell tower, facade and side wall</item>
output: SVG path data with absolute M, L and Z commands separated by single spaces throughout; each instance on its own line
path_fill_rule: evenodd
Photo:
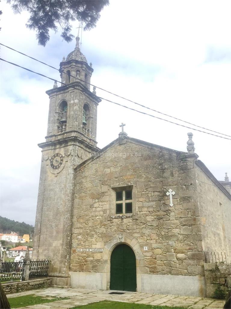
M 205 252 L 231 261 L 229 185 L 198 160 L 192 133 L 182 152 L 122 124 L 100 150 L 101 100 L 78 37 L 60 73 L 46 92 L 33 258 L 51 260 L 54 286 L 205 296 Z

